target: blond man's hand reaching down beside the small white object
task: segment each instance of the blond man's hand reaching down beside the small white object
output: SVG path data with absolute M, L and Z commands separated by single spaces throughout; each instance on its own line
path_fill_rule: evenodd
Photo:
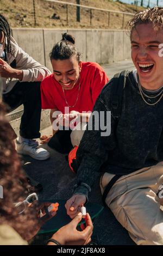
M 74 218 L 78 212 L 80 212 L 79 206 L 82 206 L 85 202 L 86 196 L 84 196 L 84 194 L 74 194 L 65 204 L 67 215 L 69 215 L 70 218 Z

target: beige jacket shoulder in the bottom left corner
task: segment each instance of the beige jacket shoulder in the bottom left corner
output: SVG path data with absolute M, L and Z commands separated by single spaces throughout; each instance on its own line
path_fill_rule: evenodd
M 0 245 L 28 245 L 9 225 L 0 225 Z

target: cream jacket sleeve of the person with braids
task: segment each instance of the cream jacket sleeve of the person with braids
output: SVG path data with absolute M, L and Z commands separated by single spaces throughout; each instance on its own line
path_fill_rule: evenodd
M 8 53 L 8 63 L 16 60 L 16 69 L 23 70 L 23 79 L 20 82 L 34 82 L 42 81 L 45 77 L 49 76 L 51 72 L 39 62 L 36 62 L 26 52 L 19 47 L 11 37 L 11 47 L 14 52 L 14 56 Z M 14 58 L 15 57 L 15 58 Z M 18 80 L 9 81 L 7 78 L 1 78 L 1 86 L 3 86 L 3 93 L 8 93 L 16 84 Z

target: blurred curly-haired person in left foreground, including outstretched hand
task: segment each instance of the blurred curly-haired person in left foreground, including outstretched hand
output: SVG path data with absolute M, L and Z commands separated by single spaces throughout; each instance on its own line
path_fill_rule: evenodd
M 27 207 L 21 214 L 15 207 L 16 202 L 23 202 L 28 196 L 29 184 L 12 141 L 13 133 L 5 118 L 5 107 L 0 99 L 0 186 L 3 188 L 1 190 L 3 195 L 0 194 L 0 245 L 28 245 L 27 241 L 42 225 L 41 218 L 38 218 L 37 214 L 43 206 Z M 81 215 L 59 229 L 48 245 L 60 243 L 84 245 L 90 242 L 93 226 L 89 215 L 87 215 L 87 227 L 81 232 L 76 229 L 77 224 L 82 220 Z

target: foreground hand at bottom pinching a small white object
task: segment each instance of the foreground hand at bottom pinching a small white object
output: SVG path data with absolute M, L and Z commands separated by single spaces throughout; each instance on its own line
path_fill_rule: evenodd
M 93 224 L 89 214 L 86 214 L 86 228 L 82 231 L 77 230 L 78 223 L 82 220 L 82 213 L 79 214 L 67 225 L 60 228 L 52 239 L 57 240 L 61 245 L 87 245 L 91 241 Z M 54 245 L 49 242 L 48 245 Z

